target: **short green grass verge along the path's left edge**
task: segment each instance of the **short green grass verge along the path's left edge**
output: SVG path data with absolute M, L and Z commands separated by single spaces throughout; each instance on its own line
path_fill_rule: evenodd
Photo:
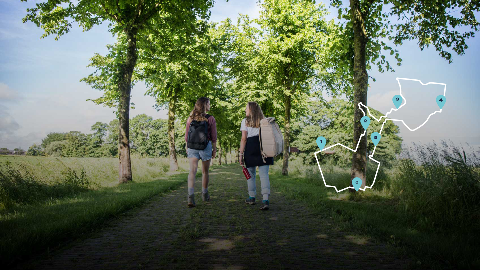
M 0 257 L 11 265 L 32 253 L 78 238 L 157 194 L 184 183 L 187 173 L 150 182 L 100 187 L 51 198 L 0 216 Z

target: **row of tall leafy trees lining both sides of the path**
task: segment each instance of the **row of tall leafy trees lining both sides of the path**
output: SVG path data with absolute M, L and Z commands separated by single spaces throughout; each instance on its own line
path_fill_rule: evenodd
M 63 4 L 62 4 L 63 2 Z M 240 16 L 208 24 L 212 0 L 48 0 L 27 10 L 25 21 L 45 29 L 43 37 L 70 31 L 73 19 L 84 30 L 110 22 L 117 43 L 106 56 L 96 54 L 94 74 L 83 80 L 103 91 L 97 104 L 116 108 L 119 118 L 119 180 L 132 179 L 129 109 L 132 85 L 144 81 L 158 108 L 168 108 L 171 169 L 176 165 L 175 119 L 183 118 L 200 96 L 212 99 L 219 126 L 219 145 L 238 141 L 231 132 L 243 118 L 247 100 L 259 102 L 284 130 L 283 174 L 288 173 L 292 117 L 307 115 L 309 98 L 322 99 L 322 90 L 353 100 L 352 145 L 357 144 L 363 116 L 356 104 L 367 105 L 368 71 L 393 71 L 389 47 L 416 39 L 420 49 L 433 45 L 452 61 L 452 48 L 463 54 L 465 41 L 478 31 L 478 1 L 332 0 L 339 21 L 326 21 L 323 4 L 312 0 L 262 0 L 260 17 Z M 460 9 L 461 12 L 452 12 Z M 392 18 L 393 17 L 393 18 Z M 392 18 L 392 19 L 391 19 Z M 394 22 L 392 22 L 393 20 Z M 458 26 L 470 29 L 458 32 Z M 457 28 L 458 29 L 458 28 Z M 446 48 L 445 48 L 446 47 Z M 394 56 L 395 55 L 395 56 Z M 373 78 L 372 78 L 373 79 Z M 374 79 L 373 79 L 374 80 Z M 352 121 L 353 120 L 353 121 Z M 367 140 L 352 157 L 352 177 L 365 179 Z

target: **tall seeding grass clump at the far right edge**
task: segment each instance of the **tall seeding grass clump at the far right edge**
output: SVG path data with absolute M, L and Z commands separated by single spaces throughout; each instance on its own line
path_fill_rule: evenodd
M 472 148 L 414 145 L 398 161 L 392 192 L 400 209 L 419 215 L 422 226 L 480 229 L 479 167 Z

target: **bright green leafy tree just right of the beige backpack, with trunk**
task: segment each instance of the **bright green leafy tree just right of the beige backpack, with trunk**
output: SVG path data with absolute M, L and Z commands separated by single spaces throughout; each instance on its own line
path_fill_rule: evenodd
M 336 93 L 342 87 L 343 77 L 334 74 L 325 49 L 336 25 L 324 20 L 324 5 L 314 1 L 265 0 L 260 6 L 259 19 L 242 16 L 237 26 L 224 22 L 232 48 L 226 67 L 244 95 L 283 122 L 286 175 L 292 113 L 305 113 L 303 102 L 313 93 L 319 95 L 318 89 Z

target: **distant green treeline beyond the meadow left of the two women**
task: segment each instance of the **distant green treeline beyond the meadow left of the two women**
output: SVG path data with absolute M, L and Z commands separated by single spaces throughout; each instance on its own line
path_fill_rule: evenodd
M 183 124 L 175 123 L 176 146 L 180 155 L 186 156 Z M 93 133 L 79 131 L 66 133 L 52 132 L 41 144 L 31 146 L 26 155 L 50 157 L 117 157 L 119 123 L 118 119 L 110 123 L 96 122 L 91 128 Z M 132 153 L 140 156 L 168 156 L 167 120 L 153 119 L 139 114 L 130 120 L 130 145 Z

